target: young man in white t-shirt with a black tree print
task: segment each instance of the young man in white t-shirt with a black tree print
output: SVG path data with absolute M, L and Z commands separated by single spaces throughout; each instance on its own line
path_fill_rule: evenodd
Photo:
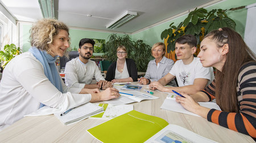
M 213 79 L 213 68 L 203 67 L 199 58 L 193 57 L 196 52 L 196 37 L 184 35 L 177 38 L 175 42 L 175 53 L 177 60 L 171 71 L 158 81 L 153 81 L 149 87 L 162 92 L 183 92 L 194 94 L 203 90 Z M 179 87 L 164 87 L 176 77 Z

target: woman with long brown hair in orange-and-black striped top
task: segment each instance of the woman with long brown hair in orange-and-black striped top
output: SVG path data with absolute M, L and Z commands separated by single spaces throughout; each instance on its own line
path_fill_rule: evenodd
M 212 31 L 201 42 L 198 57 L 204 67 L 215 67 L 214 81 L 201 92 L 176 101 L 208 121 L 256 137 L 256 62 L 253 51 L 230 28 Z M 216 99 L 222 111 L 197 102 Z

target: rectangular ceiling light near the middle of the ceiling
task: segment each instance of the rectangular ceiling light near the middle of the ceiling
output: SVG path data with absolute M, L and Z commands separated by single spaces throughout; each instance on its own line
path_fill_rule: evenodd
M 106 28 L 115 29 L 121 26 L 122 24 L 126 23 L 130 19 L 133 19 L 135 16 L 137 16 L 137 12 L 126 11 L 124 14 L 115 19 L 112 23 L 106 25 Z

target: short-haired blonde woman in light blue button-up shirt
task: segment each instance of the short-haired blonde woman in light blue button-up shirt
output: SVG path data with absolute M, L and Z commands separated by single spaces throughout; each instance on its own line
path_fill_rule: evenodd
M 174 66 L 174 60 L 164 57 L 166 45 L 163 42 L 157 42 L 151 48 L 151 55 L 155 58 L 147 64 L 147 71 L 144 77 L 139 80 L 140 84 L 150 84 L 151 81 L 158 81 L 171 71 Z M 168 85 L 176 86 L 175 80 L 170 81 Z

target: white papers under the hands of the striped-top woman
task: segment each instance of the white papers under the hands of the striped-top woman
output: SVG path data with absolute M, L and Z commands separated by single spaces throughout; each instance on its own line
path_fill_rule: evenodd
M 180 105 L 180 103 L 177 103 L 175 101 L 176 95 L 174 93 L 168 94 L 166 99 L 164 99 L 164 102 L 160 109 L 166 109 L 166 110 L 171 110 L 175 112 L 181 112 L 184 114 L 189 114 L 189 115 L 194 115 L 194 116 L 199 116 L 197 114 L 194 114 L 193 112 L 190 112 L 186 109 L 184 109 L 183 106 Z M 221 110 L 220 107 L 214 103 L 214 102 L 198 102 L 200 106 L 207 107 L 209 109 L 216 109 L 216 110 Z

